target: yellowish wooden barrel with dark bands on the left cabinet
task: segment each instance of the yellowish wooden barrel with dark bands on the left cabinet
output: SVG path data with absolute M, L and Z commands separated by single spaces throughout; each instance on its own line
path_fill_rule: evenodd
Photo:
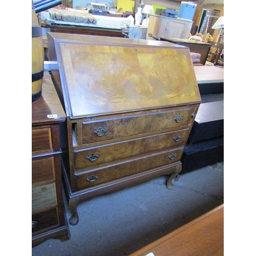
M 35 13 L 32 0 L 32 102 L 42 94 L 42 78 L 44 77 L 44 45 L 41 28 Z

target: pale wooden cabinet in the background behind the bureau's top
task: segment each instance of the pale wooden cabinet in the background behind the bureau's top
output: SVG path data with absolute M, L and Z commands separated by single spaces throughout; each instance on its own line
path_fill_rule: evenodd
M 192 25 L 193 22 L 188 19 L 150 15 L 146 39 L 154 40 L 152 35 L 165 38 L 187 39 Z

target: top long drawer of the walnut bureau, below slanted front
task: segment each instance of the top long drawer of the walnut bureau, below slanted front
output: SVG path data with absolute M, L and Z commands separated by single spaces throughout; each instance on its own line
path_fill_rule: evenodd
M 82 143 L 105 141 L 127 136 L 162 131 L 190 124 L 190 108 L 82 122 Z

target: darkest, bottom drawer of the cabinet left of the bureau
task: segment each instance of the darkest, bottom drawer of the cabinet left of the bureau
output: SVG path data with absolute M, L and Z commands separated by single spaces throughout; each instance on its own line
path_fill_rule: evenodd
M 32 215 L 32 235 L 33 233 L 59 225 L 58 210 L 54 207 L 51 210 L 43 211 Z

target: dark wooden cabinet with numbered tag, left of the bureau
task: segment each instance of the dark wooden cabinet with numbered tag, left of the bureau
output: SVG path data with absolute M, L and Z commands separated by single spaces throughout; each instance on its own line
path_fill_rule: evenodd
M 66 114 L 45 71 L 42 95 L 32 102 L 32 246 L 69 239 L 62 200 L 59 123 Z

